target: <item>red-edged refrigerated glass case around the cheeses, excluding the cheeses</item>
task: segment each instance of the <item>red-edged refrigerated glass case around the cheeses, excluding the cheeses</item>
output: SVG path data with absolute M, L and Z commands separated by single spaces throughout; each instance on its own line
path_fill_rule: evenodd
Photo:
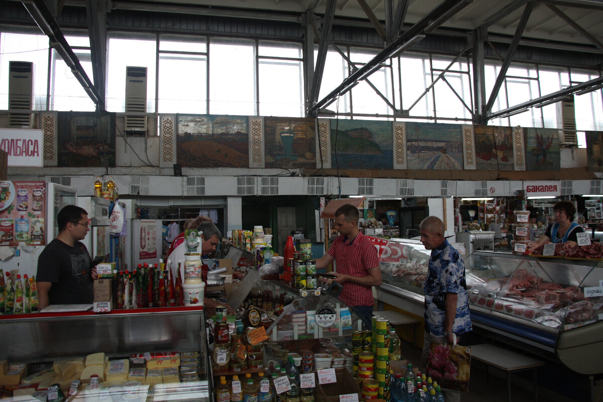
M 27 363 L 32 374 L 55 360 L 101 351 L 110 359 L 140 353 L 197 352 L 198 380 L 134 388 L 129 385 L 127 391 L 133 395 L 128 400 L 209 401 L 211 379 L 203 317 L 203 307 L 0 315 L 0 342 L 5 345 L 0 348 L 0 360 Z M 123 386 L 104 390 L 115 392 L 110 395 L 113 401 L 124 394 Z M 81 390 L 74 398 L 86 396 Z

